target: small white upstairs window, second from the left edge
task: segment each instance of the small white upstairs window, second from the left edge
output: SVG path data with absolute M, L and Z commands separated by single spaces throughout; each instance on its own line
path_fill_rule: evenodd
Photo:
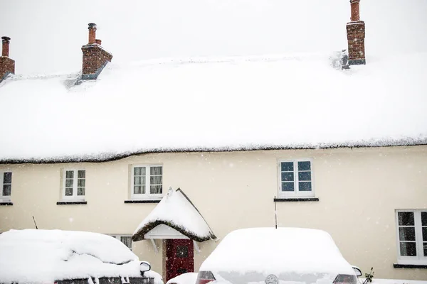
M 83 169 L 63 170 L 63 199 L 85 200 L 86 171 Z

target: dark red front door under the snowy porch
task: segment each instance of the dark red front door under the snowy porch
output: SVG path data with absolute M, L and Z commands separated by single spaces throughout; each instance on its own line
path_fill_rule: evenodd
M 166 240 L 166 280 L 187 272 L 194 272 L 193 241 L 189 239 Z

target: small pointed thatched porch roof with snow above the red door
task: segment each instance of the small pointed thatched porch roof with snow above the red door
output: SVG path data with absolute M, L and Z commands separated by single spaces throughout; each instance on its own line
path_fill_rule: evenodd
M 141 241 L 149 231 L 165 224 L 194 241 L 216 239 L 199 210 L 181 189 L 169 190 L 159 204 L 135 230 L 132 241 Z

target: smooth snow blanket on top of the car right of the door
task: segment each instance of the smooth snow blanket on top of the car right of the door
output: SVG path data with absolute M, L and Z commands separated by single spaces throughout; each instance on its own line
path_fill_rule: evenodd
M 200 271 L 354 274 L 330 234 L 300 228 L 232 231 L 201 264 Z

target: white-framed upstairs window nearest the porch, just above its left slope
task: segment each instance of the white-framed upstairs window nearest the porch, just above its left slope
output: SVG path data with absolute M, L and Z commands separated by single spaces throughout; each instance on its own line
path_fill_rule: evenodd
M 131 180 L 132 199 L 144 200 L 162 198 L 162 165 L 133 165 Z

